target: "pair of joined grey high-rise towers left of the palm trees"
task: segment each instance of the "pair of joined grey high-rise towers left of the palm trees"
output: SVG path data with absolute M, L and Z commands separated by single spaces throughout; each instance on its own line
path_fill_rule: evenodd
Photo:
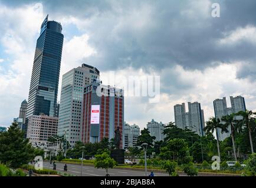
M 180 129 L 191 129 L 198 135 L 205 135 L 204 110 L 198 102 L 188 102 L 188 112 L 185 109 L 185 103 L 174 106 L 175 125 Z

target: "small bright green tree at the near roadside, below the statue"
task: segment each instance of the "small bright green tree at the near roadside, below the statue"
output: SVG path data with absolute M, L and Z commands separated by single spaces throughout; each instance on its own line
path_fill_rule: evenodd
M 104 152 L 95 157 L 94 167 L 97 169 L 106 169 L 106 173 L 108 169 L 113 169 L 113 167 L 116 166 L 116 161 L 110 157 L 109 153 Z

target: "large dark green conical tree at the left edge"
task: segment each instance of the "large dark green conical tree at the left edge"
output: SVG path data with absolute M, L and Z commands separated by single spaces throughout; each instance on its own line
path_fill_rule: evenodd
M 0 161 L 11 167 L 19 167 L 34 159 L 35 153 L 28 139 L 24 139 L 17 123 L 12 123 L 7 132 L 0 134 Z

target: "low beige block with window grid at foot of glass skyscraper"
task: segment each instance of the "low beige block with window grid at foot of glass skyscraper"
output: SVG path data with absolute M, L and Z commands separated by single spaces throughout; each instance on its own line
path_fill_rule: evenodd
M 27 138 L 32 141 L 47 141 L 57 135 L 58 117 L 32 115 L 28 117 Z

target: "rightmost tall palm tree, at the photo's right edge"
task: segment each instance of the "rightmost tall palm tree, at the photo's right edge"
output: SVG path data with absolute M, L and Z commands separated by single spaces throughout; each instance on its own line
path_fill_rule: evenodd
M 240 127 L 246 126 L 249 133 L 250 145 L 251 145 L 251 153 L 254 153 L 253 144 L 252 144 L 252 137 L 251 137 L 251 127 L 255 125 L 255 117 L 252 115 L 256 115 L 256 112 L 252 112 L 251 110 L 245 110 L 238 112 L 236 115 L 242 116 L 242 120 L 239 121 L 238 125 Z

